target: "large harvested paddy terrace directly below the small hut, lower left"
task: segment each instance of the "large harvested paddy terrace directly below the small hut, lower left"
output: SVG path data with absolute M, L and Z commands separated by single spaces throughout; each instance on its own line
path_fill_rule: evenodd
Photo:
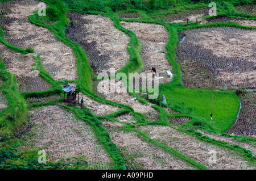
M 21 137 L 22 147 L 45 148 L 47 159 L 86 156 L 89 168 L 112 169 L 108 154 L 92 128 L 58 106 L 28 112 L 31 129 Z

